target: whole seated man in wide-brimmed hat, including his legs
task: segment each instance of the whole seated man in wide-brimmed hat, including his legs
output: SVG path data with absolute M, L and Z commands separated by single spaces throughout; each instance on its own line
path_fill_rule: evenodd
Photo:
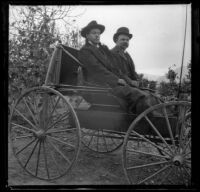
M 113 60 L 113 54 L 108 47 L 100 43 L 100 35 L 105 27 L 90 22 L 81 30 L 86 39 L 85 45 L 79 51 L 79 60 L 83 63 L 85 85 L 110 87 L 111 93 L 125 100 L 131 111 L 140 113 L 155 103 L 149 103 L 148 94 L 142 90 L 127 85 L 126 81 L 118 76 Z M 88 84 L 89 83 L 89 84 Z M 141 107 L 140 102 L 144 103 Z

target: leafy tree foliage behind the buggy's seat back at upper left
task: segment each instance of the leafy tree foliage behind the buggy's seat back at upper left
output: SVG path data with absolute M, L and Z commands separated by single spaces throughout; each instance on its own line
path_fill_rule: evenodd
M 65 7 L 66 9 L 66 7 Z M 40 86 L 45 81 L 48 64 L 57 43 L 78 48 L 80 36 L 77 29 L 71 29 L 68 10 L 61 6 L 11 7 L 18 14 L 9 23 L 9 100 L 12 102 L 21 91 Z M 71 13 L 70 13 L 71 14 Z M 66 34 L 61 35 L 56 22 L 65 21 Z M 68 26 L 67 26 L 68 25 Z M 67 38 L 66 38 L 67 37 Z

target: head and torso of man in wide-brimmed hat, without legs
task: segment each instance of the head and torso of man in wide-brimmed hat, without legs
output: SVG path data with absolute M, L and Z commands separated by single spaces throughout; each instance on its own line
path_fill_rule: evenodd
M 83 62 L 83 75 L 87 82 L 106 87 L 117 86 L 118 77 L 112 73 L 110 51 L 107 46 L 100 43 L 100 35 L 105 27 L 90 22 L 81 30 L 81 36 L 86 39 L 85 45 L 80 50 L 80 60 Z M 110 54 L 110 55 L 109 55 Z

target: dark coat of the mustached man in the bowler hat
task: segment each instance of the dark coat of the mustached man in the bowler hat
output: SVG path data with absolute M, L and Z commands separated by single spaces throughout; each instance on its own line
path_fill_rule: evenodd
M 111 49 L 115 57 L 115 67 L 118 69 L 118 74 L 129 83 L 131 80 L 137 80 L 137 73 L 135 65 L 131 56 L 126 52 L 124 53 L 118 46 Z

